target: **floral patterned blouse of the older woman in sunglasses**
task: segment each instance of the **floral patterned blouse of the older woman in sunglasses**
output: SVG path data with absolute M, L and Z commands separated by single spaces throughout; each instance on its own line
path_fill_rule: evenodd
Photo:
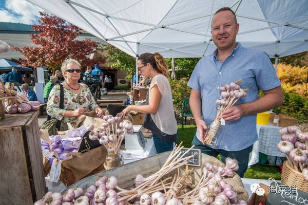
M 74 126 L 76 117 L 64 117 L 66 110 L 75 110 L 78 108 L 86 108 L 87 111 L 94 110 L 94 107 L 98 106 L 98 104 L 95 103 L 89 87 L 83 84 L 80 84 L 80 86 L 80 94 L 76 94 L 63 86 L 64 109 L 60 108 L 60 85 L 53 86 L 47 102 L 47 114 L 58 120 L 69 122 Z

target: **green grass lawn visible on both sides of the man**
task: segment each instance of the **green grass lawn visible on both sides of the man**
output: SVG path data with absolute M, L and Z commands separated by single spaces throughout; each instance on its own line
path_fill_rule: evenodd
M 183 141 L 183 146 L 189 148 L 196 130 L 196 125 L 184 125 L 184 129 L 181 128 L 181 125 L 178 125 L 179 140 L 177 143 Z M 220 156 L 218 156 L 218 158 L 220 158 Z M 267 165 L 252 166 L 245 172 L 244 177 L 253 179 L 268 179 L 273 177 L 276 180 L 281 179 L 279 167 Z

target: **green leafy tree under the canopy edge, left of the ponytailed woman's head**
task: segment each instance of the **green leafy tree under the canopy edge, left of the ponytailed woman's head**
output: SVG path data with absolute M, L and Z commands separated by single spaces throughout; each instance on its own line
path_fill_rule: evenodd
M 136 70 L 136 59 L 110 44 L 104 46 L 104 49 L 108 51 L 108 61 L 113 63 L 111 66 L 120 67 L 121 69 L 126 70 L 128 72 L 126 79 L 132 79 Z

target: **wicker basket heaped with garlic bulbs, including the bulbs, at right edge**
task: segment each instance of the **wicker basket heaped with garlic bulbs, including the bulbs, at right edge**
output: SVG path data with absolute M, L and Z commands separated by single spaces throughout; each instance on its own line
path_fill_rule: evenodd
M 281 181 L 308 192 L 308 124 L 279 129 L 281 140 L 277 150 L 286 155 Z

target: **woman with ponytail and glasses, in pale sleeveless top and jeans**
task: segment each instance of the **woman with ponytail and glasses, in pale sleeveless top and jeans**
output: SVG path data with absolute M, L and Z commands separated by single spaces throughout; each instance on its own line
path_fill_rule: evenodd
M 145 78 L 152 79 L 147 93 L 148 105 L 129 105 L 121 116 L 124 117 L 130 110 L 145 113 L 143 126 L 152 132 L 157 152 L 171 151 L 178 139 L 178 126 L 168 81 L 168 66 L 157 52 L 141 54 L 137 65 Z

